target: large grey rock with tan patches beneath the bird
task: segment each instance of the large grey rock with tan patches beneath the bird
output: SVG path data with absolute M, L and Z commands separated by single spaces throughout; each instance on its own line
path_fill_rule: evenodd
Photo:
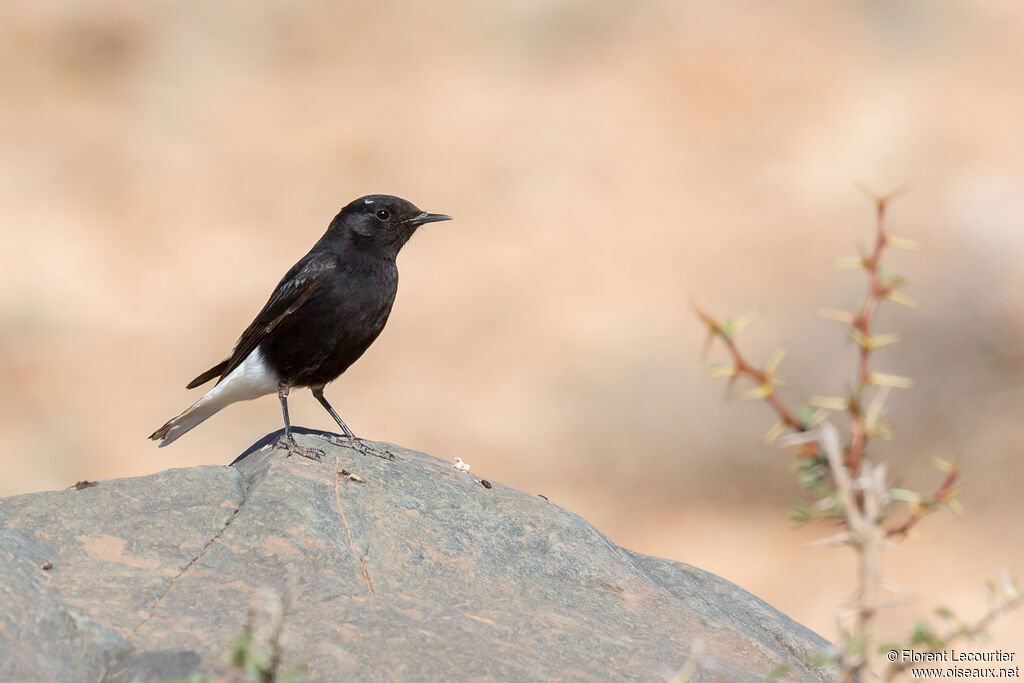
M 694 647 L 690 680 L 828 678 L 803 664 L 827 646 L 811 631 L 542 497 L 275 437 L 230 467 L 0 500 L 0 680 L 216 675 L 274 605 L 301 680 L 666 680 Z

